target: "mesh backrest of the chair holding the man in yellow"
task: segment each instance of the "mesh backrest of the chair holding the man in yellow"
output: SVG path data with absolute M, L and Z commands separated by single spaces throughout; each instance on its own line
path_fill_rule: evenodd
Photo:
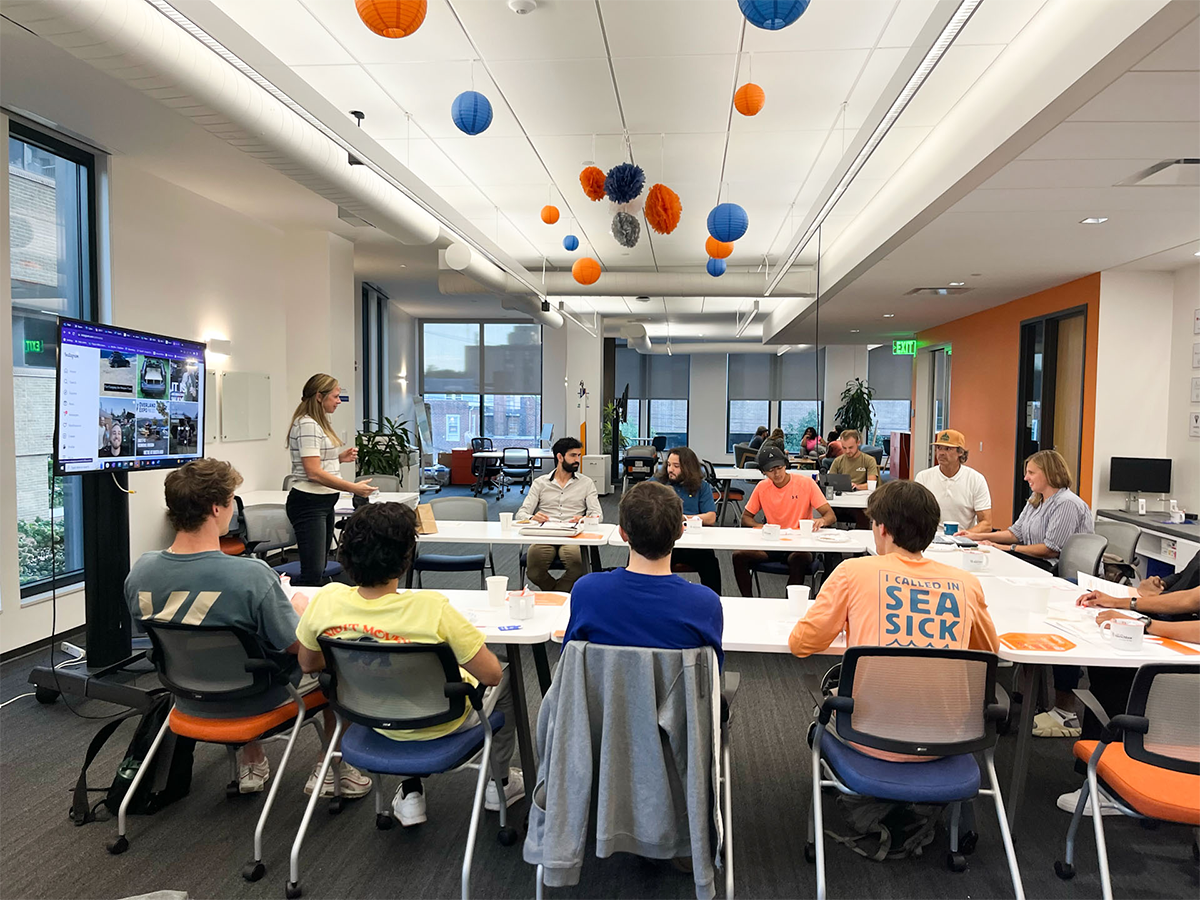
M 466 697 L 446 697 L 462 676 L 444 643 L 317 638 L 325 655 L 325 696 L 350 721 L 372 728 L 426 728 L 455 721 Z

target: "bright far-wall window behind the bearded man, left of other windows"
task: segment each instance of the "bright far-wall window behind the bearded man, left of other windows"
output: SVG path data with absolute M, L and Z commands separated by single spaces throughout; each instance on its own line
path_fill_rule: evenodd
M 541 326 L 421 323 L 421 394 L 433 450 L 491 438 L 497 449 L 541 437 Z

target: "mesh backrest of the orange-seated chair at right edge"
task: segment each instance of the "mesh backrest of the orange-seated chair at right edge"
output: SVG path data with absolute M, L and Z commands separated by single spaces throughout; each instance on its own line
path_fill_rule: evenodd
M 1200 775 L 1200 665 L 1152 662 L 1138 670 L 1129 715 L 1145 716 L 1145 734 L 1126 731 L 1132 760 Z

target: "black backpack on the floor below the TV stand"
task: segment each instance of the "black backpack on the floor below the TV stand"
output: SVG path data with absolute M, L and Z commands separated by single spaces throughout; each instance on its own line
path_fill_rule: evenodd
M 106 722 L 88 745 L 88 754 L 84 756 L 83 768 L 79 770 L 79 780 L 76 781 L 70 811 L 71 821 L 77 826 L 96 821 L 96 811 L 101 806 L 107 806 L 112 815 L 116 815 L 120 809 L 121 800 L 125 799 L 130 785 L 133 784 L 142 761 L 150 752 L 150 745 L 170 714 L 172 695 L 169 691 L 152 691 L 150 698 L 150 708 L 142 714 L 138 727 L 133 732 L 133 739 L 130 740 L 125 756 L 116 767 L 116 776 L 108 787 L 89 788 L 88 767 L 91 766 L 96 754 L 113 737 L 121 722 L 136 716 L 137 710 L 130 710 L 125 715 Z M 192 752 L 194 749 L 196 740 L 181 738 L 168 731 L 163 736 L 162 744 L 158 745 L 158 752 L 155 754 L 151 770 L 138 785 L 138 792 L 130 803 L 128 811 L 134 815 L 149 816 L 180 797 L 186 797 L 192 786 Z M 103 791 L 104 797 L 91 805 L 88 800 L 89 791 Z

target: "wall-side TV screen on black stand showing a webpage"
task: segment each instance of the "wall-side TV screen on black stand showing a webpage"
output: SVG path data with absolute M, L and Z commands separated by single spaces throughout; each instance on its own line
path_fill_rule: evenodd
M 204 344 L 59 319 L 58 475 L 204 456 Z

